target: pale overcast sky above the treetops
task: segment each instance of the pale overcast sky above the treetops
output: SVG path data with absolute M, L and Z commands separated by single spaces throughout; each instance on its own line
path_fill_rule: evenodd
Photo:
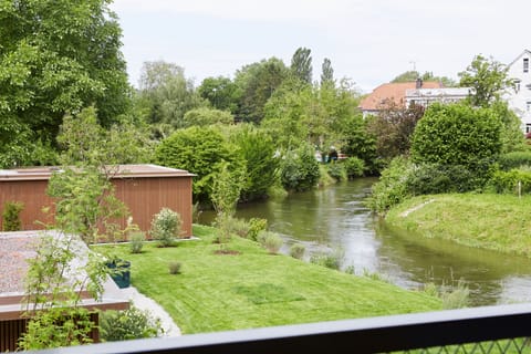
M 531 0 L 115 0 L 122 51 L 137 86 L 164 60 L 196 86 L 271 56 L 312 50 L 363 92 L 413 70 L 457 80 L 477 54 L 509 64 L 531 49 Z

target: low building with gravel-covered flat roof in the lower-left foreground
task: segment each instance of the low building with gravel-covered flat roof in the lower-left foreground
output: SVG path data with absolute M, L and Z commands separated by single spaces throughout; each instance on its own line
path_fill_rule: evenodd
M 53 238 L 64 237 L 56 231 L 0 232 L 0 352 L 2 353 L 15 351 L 19 339 L 25 332 L 29 322 L 24 300 L 24 279 L 29 268 L 27 260 L 37 256 L 37 247 L 44 232 Z M 86 244 L 81 239 L 71 244 L 75 246 L 77 264 L 72 264 L 71 273 L 65 277 L 66 279 L 80 274 L 76 269 L 84 264 L 83 257 L 86 256 L 87 251 Z M 80 306 L 91 311 L 91 321 L 94 323 L 98 321 L 98 311 L 129 308 L 128 300 L 121 294 L 118 287 L 110 277 L 107 277 L 103 288 L 102 298 L 98 300 L 93 299 L 88 292 L 81 291 Z M 92 331 L 90 336 L 94 342 L 100 340 L 96 329 Z

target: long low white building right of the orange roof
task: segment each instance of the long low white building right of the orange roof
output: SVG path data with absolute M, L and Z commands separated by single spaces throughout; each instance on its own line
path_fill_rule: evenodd
M 457 103 L 473 93 L 471 87 L 409 88 L 406 90 L 406 106 L 429 106 L 434 102 Z

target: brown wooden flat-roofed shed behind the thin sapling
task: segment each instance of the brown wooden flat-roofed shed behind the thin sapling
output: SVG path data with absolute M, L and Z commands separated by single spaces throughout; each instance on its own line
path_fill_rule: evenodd
M 48 180 L 56 167 L 0 170 L 0 214 L 7 201 L 24 205 L 20 215 L 22 230 L 43 229 L 53 221 L 53 199 L 46 195 Z M 133 222 L 148 231 L 153 216 L 169 208 L 183 218 L 184 237 L 191 236 L 192 174 L 156 165 L 119 165 L 112 181 L 116 197 L 129 209 Z M 46 214 L 44 207 L 50 207 Z M 39 222 L 40 221 L 40 222 Z M 118 220 L 122 226 L 126 219 Z M 0 219 L 0 229 L 3 229 Z

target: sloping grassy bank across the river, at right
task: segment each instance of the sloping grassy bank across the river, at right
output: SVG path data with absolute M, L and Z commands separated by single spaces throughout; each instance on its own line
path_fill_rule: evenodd
M 421 196 L 394 207 L 393 226 L 460 244 L 531 257 L 531 196 Z

